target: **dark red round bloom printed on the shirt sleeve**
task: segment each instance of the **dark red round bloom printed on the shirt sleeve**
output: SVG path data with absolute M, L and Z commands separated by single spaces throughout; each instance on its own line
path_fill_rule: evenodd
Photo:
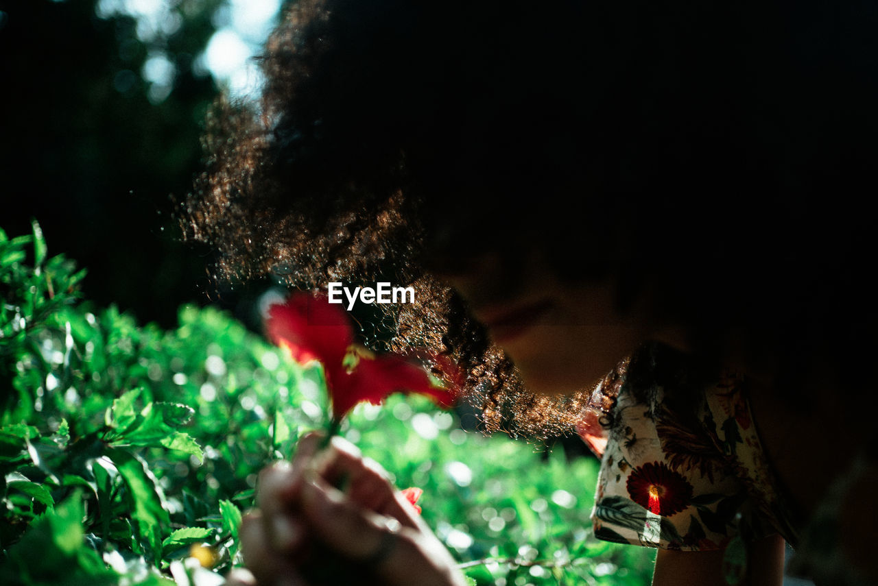
M 626 488 L 632 501 L 656 515 L 669 517 L 685 509 L 692 500 L 692 485 L 665 462 L 634 468 Z

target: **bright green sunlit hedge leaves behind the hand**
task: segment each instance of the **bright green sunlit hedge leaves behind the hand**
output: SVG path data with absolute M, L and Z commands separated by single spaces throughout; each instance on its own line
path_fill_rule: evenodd
M 171 330 L 99 309 L 32 232 L 0 232 L 0 582 L 217 583 L 258 471 L 327 423 L 320 368 L 212 308 Z M 649 580 L 651 551 L 590 531 L 592 459 L 466 432 L 421 397 L 360 405 L 342 433 L 424 490 L 479 584 Z

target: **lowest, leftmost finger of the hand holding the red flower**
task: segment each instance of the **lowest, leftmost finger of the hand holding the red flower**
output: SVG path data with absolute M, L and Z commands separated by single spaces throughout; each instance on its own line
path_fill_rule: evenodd
M 240 534 L 244 564 L 259 586 L 306 586 L 291 558 L 277 554 L 271 547 L 271 537 L 265 531 L 260 511 L 251 511 L 244 516 Z

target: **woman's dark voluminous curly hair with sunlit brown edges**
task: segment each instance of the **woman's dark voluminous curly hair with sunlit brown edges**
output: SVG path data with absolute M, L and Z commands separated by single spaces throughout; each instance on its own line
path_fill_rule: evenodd
M 184 231 L 225 278 L 411 284 L 390 346 L 460 361 L 489 430 L 545 436 L 584 401 L 529 394 L 431 275 L 525 231 L 559 277 L 612 275 L 621 309 L 648 297 L 711 363 L 741 339 L 795 392 L 871 360 L 878 325 L 876 16 L 807 4 L 302 0 L 260 103 L 213 113 Z

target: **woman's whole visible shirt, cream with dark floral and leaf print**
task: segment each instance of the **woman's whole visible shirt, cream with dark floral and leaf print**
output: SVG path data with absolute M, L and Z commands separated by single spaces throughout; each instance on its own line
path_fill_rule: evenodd
M 592 512 L 601 540 L 724 549 L 732 584 L 745 575 L 749 540 L 780 532 L 798 541 L 741 375 L 702 385 L 682 354 L 645 347 L 594 390 L 578 432 L 602 458 Z

